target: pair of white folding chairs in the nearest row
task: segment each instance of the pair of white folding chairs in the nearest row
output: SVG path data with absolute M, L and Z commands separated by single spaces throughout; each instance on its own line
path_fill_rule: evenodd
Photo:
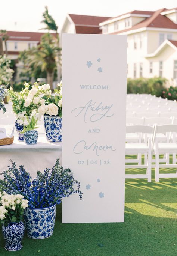
M 126 159 L 127 164 L 125 168 L 146 168 L 146 174 L 126 174 L 125 178 L 148 178 L 148 182 L 151 182 L 153 161 L 155 162 L 153 167 L 155 167 L 156 182 L 159 182 L 159 178 L 177 178 L 177 173 L 159 173 L 159 168 L 177 168 L 177 124 L 154 125 L 153 127 L 148 125 L 126 126 L 126 134 L 130 133 L 138 133 L 140 137 L 134 143 L 126 143 L 126 155 L 137 155 L 138 157 L 136 159 Z M 165 137 L 167 139 L 164 142 L 160 142 L 157 136 L 158 134 L 166 134 Z M 155 154 L 155 160 L 152 159 L 153 154 Z M 166 157 L 161 159 L 159 158 L 160 154 L 166 155 Z M 169 164 L 170 154 L 173 155 L 173 164 Z M 144 164 L 142 164 L 142 155 L 145 156 Z

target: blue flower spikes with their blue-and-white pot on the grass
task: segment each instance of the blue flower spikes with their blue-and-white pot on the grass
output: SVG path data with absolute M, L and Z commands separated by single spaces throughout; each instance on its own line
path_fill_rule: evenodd
M 22 194 L 29 201 L 24 211 L 24 221 L 30 238 L 43 239 L 53 234 L 56 205 L 62 202 L 63 197 L 78 193 L 82 199 L 80 183 L 74 180 L 69 168 L 60 166 L 59 159 L 52 170 L 37 171 L 33 181 L 24 167 L 19 166 L 18 169 L 13 161 L 3 176 L 1 189 L 6 193 Z

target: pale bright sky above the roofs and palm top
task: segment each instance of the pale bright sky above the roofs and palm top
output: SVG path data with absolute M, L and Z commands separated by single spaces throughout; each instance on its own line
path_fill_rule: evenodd
M 59 31 L 67 13 L 115 17 L 133 10 L 155 11 L 177 7 L 176 0 L 1 0 L 0 29 L 32 31 L 41 24 L 44 6 L 55 19 Z

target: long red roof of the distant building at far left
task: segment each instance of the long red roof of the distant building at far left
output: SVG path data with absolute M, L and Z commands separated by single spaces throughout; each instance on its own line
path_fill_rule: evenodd
M 21 31 L 7 31 L 7 35 L 9 36 L 8 40 L 13 41 L 40 41 L 40 38 L 45 33 L 40 32 L 21 32 Z M 51 33 L 55 35 L 55 33 Z

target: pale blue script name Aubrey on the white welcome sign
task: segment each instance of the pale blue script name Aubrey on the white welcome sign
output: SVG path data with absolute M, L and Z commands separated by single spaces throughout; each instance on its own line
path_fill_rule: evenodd
M 72 112 L 76 113 L 75 116 L 83 114 L 84 122 L 86 123 L 87 116 L 91 122 L 96 122 L 103 117 L 111 117 L 114 115 L 114 112 L 111 111 L 112 105 L 103 105 L 102 102 L 96 103 L 92 100 L 88 101 L 86 105 L 83 105 L 78 108 L 74 108 Z M 96 113 L 95 113 L 96 112 Z M 111 113 L 110 113 L 111 112 Z M 93 114 L 95 113 L 95 114 Z

